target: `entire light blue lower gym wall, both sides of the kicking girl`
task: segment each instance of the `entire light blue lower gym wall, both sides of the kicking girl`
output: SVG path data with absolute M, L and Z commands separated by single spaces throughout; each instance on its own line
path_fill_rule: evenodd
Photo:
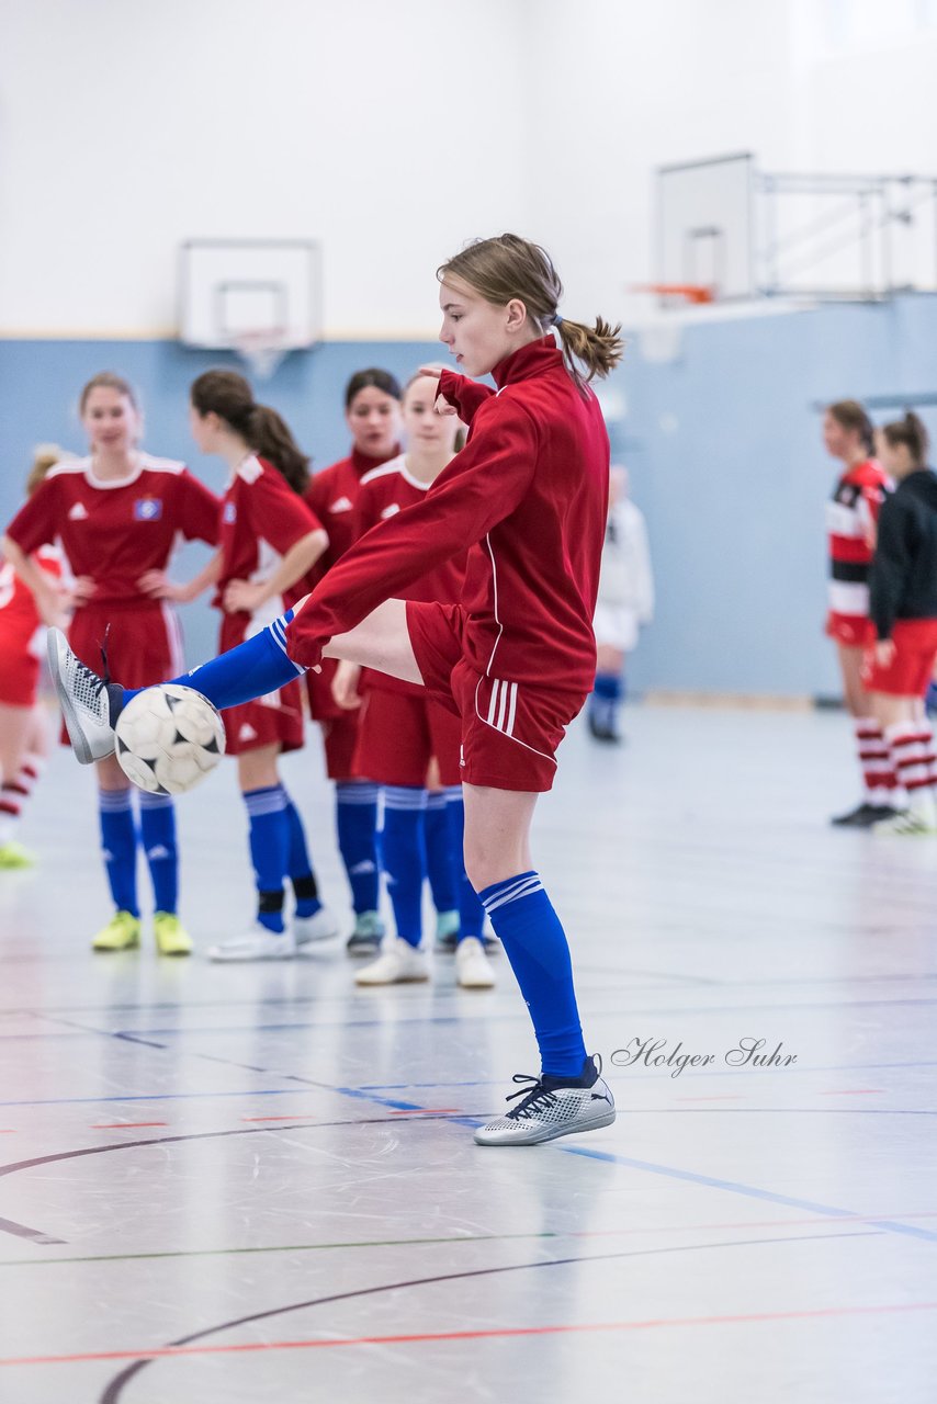
M 836 466 L 813 406 L 933 393 L 936 347 L 934 298 L 700 324 L 666 365 L 642 358 L 639 336 L 629 340 L 617 372 L 629 413 L 612 437 L 648 517 L 657 580 L 657 618 L 632 660 L 638 689 L 837 692 L 822 635 L 823 503 Z M 440 351 L 434 343 L 329 344 L 291 355 L 257 393 L 323 468 L 347 452 L 347 378 L 362 365 L 407 376 Z M 188 439 L 185 406 L 194 376 L 225 361 L 170 341 L 0 341 L 0 518 L 21 500 L 35 442 L 83 448 L 76 396 L 104 368 L 139 388 L 148 446 L 185 459 L 221 489 L 221 465 Z M 934 411 L 926 417 L 937 434 Z M 188 548 L 180 576 L 202 559 L 201 548 Z M 191 661 L 214 651 L 205 605 L 184 611 L 184 628 Z

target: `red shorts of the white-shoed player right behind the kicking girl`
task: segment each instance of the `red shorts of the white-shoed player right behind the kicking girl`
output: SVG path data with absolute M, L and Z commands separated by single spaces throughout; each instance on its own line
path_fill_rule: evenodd
M 435 698 L 369 688 L 361 705 L 354 774 L 378 785 L 426 785 L 430 761 L 440 785 L 461 785 L 462 723 Z

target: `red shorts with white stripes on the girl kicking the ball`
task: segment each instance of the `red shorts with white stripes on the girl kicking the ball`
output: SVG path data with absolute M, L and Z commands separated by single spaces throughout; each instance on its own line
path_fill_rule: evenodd
M 461 717 L 462 779 L 492 789 L 551 789 L 556 747 L 586 694 L 479 673 L 462 654 L 459 605 L 410 601 L 406 619 L 427 692 Z

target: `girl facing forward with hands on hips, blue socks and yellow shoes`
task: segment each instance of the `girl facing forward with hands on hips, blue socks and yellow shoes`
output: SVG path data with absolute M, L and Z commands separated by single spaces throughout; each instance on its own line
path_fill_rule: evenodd
M 74 576 L 69 642 L 100 665 L 107 639 L 110 665 L 148 687 L 181 658 L 176 612 L 150 595 L 148 580 L 162 571 L 180 536 L 215 543 L 218 498 L 183 463 L 139 446 L 142 418 L 129 383 L 107 371 L 84 386 L 81 423 L 90 455 L 53 468 L 7 528 L 4 553 L 42 602 L 45 577 L 30 556 L 60 542 Z M 45 612 L 45 605 L 41 604 Z M 178 921 L 178 854 L 170 796 L 139 795 L 139 841 L 155 893 L 153 929 L 164 955 L 188 955 L 191 941 Z M 138 827 L 131 782 L 114 757 L 98 764 L 101 848 L 114 899 L 112 920 L 94 936 L 96 951 L 139 945 L 136 896 Z

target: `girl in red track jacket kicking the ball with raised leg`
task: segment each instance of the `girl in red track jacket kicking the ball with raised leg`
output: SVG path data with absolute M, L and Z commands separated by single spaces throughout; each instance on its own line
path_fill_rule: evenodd
M 601 1068 L 586 1056 L 569 946 L 532 869 L 530 826 L 596 671 L 608 437 L 587 382 L 614 368 L 621 341 L 601 319 L 589 327 L 561 317 L 548 254 L 516 234 L 469 244 L 438 279 L 440 340 L 461 371 L 490 373 L 496 385 L 438 376 L 437 409 L 469 424 L 465 448 L 421 503 L 362 536 L 267 637 L 204 665 L 192 685 L 229 706 L 325 654 L 423 682 L 458 713 L 465 865 L 521 987 L 542 1064 L 538 1077 L 518 1075 L 527 1085 L 516 1105 L 475 1139 L 535 1144 L 615 1116 Z M 459 604 L 395 598 L 465 546 Z M 122 694 L 83 702 L 94 680 L 63 640 L 53 653 L 76 750 L 105 748 Z

